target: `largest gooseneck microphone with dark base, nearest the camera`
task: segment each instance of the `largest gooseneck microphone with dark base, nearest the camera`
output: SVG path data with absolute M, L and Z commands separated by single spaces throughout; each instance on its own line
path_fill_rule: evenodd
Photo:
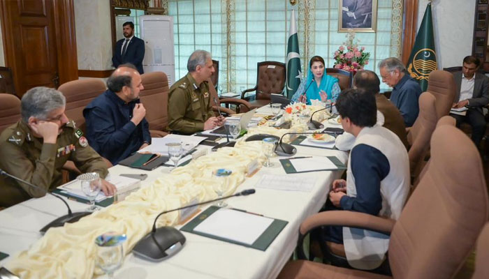
M 143 239 L 140 239 L 136 246 L 133 248 L 134 255 L 142 257 L 144 259 L 149 259 L 152 262 L 161 262 L 163 259 L 175 255 L 179 252 L 185 241 L 185 236 L 180 232 L 180 230 L 175 229 L 175 227 L 159 227 L 156 229 L 156 220 L 159 216 L 177 211 L 180 209 L 188 209 L 189 207 L 199 206 L 202 204 L 209 204 L 211 202 L 217 202 L 221 199 L 228 199 L 230 197 L 247 196 L 255 193 L 255 189 L 242 190 L 240 193 L 235 193 L 234 195 L 228 195 L 226 197 L 219 197 L 218 199 L 212 199 L 207 202 L 200 202 L 198 204 L 190 204 L 187 206 L 180 207 L 178 209 L 171 209 L 168 211 L 163 211 L 154 218 L 153 228 L 149 234 L 146 234 Z

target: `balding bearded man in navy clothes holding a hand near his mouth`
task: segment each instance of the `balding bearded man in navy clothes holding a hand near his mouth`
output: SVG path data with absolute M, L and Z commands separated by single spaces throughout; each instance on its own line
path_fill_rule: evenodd
M 131 64 L 119 66 L 107 80 L 108 90 L 92 100 L 83 116 L 92 147 L 113 165 L 151 142 L 146 110 L 140 103 L 141 75 Z

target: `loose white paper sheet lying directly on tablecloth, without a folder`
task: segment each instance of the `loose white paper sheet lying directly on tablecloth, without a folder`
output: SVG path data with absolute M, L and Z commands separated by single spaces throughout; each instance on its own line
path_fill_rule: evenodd
M 295 177 L 275 174 L 263 174 L 256 182 L 256 188 L 273 190 L 310 192 L 316 184 L 315 177 Z

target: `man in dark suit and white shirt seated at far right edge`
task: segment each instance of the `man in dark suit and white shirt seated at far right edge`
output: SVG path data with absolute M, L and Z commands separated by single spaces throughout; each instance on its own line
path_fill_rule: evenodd
M 472 126 L 472 140 L 479 148 L 482 137 L 486 132 L 486 119 L 482 112 L 482 107 L 489 103 L 489 79 L 486 75 L 476 73 L 481 66 L 481 61 L 474 56 L 465 56 L 462 71 L 454 73 L 457 93 L 453 108 L 467 106 L 465 116 L 450 114 L 457 120 L 457 127 L 460 123 L 467 122 Z

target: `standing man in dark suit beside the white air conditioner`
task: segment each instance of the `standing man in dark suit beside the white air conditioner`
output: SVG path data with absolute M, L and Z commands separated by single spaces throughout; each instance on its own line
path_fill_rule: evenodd
M 134 36 L 134 24 L 124 22 L 122 24 L 124 39 L 118 40 L 115 52 L 112 55 L 112 64 L 115 68 L 121 64 L 131 63 L 143 74 L 143 59 L 145 58 L 145 41 Z

